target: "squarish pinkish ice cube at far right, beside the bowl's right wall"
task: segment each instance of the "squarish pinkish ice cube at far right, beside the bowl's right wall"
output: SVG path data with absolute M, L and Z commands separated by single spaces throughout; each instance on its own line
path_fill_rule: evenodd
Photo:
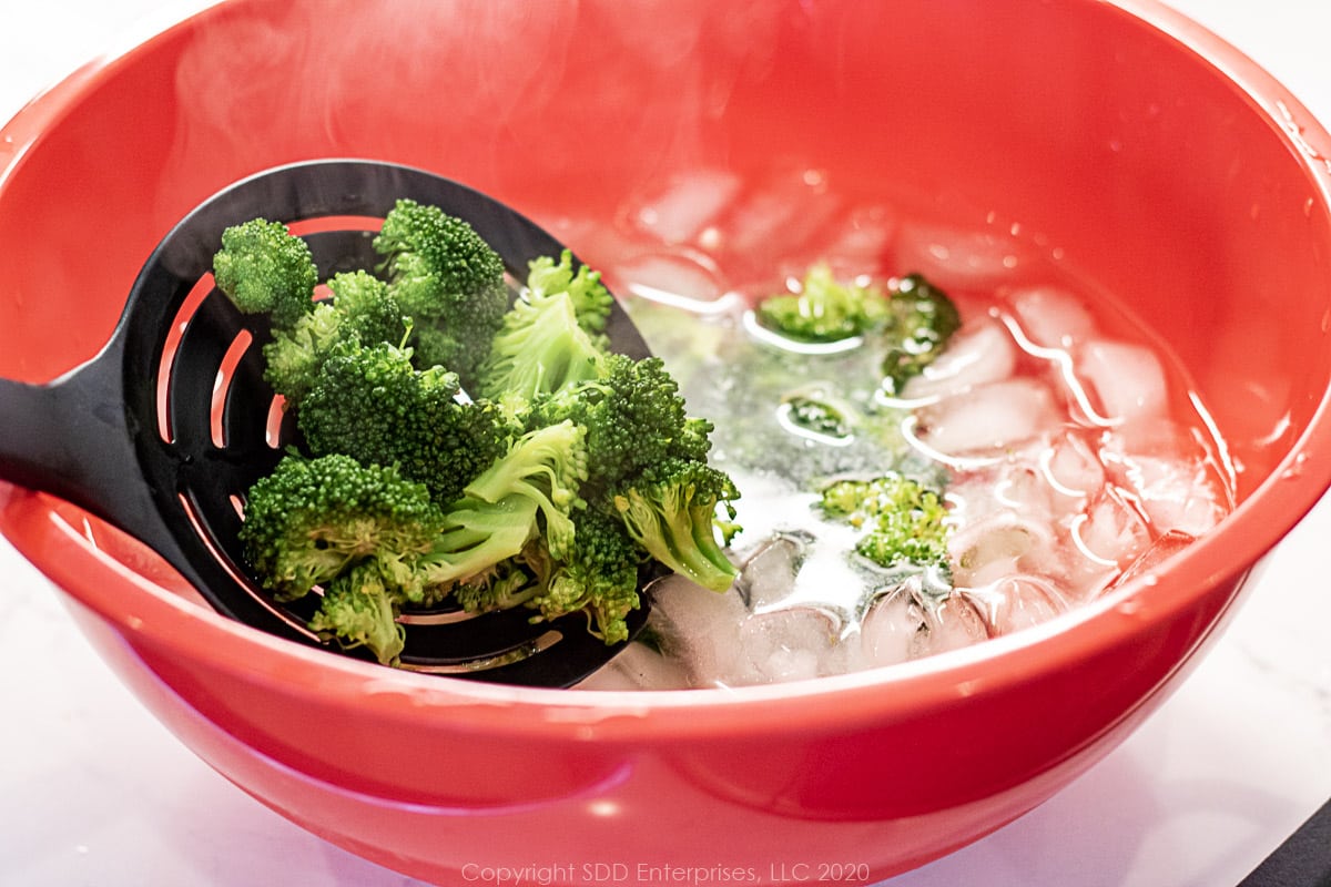
M 1165 367 L 1139 344 L 1094 339 L 1075 355 L 1075 374 L 1103 419 L 1139 423 L 1159 419 L 1169 406 Z

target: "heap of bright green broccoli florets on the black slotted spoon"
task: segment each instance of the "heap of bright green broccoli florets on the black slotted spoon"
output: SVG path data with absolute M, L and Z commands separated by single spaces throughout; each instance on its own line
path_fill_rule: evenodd
M 451 598 L 584 613 L 618 644 L 654 557 L 729 586 L 739 492 L 707 464 L 713 427 L 660 360 L 608 350 L 612 297 L 571 253 L 532 261 L 510 306 L 474 229 L 399 201 L 374 241 L 387 279 L 335 274 L 314 302 L 299 238 L 230 231 L 217 277 L 272 315 L 265 378 L 301 432 L 250 488 L 241 541 L 276 597 L 319 594 L 321 637 L 393 664 L 402 610 Z

